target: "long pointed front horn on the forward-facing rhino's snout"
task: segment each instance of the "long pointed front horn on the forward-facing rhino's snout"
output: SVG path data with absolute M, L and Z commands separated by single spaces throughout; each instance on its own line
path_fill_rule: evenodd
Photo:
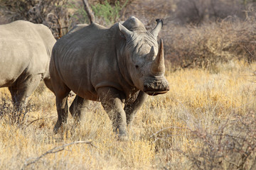
M 164 42 L 160 40 L 160 47 L 159 52 L 156 55 L 155 60 L 152 62 L 151 65 L 151 72 L 153 74 L 164 74 L 165 67 L 164 67 Z

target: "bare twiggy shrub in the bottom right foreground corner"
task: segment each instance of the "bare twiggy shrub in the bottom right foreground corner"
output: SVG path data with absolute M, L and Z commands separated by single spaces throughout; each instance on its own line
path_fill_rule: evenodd
M 255 128 L 253 112 L 223 120 L 218 129 L 197 125 L 190 146 L 178 152 L 188 158 L 191 169 L 255 169 Z

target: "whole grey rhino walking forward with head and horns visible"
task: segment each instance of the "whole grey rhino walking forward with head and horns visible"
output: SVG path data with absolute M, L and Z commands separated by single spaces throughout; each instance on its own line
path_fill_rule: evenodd
M 55 43 L 50 60 L 58 112 L 54 132 L 67 122 L 67 98 L 72 90 L 77 94 L 70 106 L 75 119 L 80 119 L 88 100 L 100 101 L 119 139 L 127 139 L 127 125 L 146 94 L 169 91 L 163 41 L 158 45 L 156 40 L 163 23 L 156 21 L 149 31 L 135 17 L 111 28 L 97 23 L 78 26 Z

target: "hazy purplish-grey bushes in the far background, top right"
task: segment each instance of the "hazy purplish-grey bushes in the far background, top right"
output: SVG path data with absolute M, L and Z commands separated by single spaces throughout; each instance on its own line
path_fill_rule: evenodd
M 235 16 L 247 17 L 247 8 L 254 0 L 181 0 L 176 5 L 176 20 L 179 23 L 203 23 Z

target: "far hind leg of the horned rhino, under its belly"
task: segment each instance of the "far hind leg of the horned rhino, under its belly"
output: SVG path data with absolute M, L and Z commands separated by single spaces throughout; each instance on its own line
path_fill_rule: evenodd
M 81 98 L 80 96 L 76 95 L 73 103 L 70 106 L 70 113 L 73 115 L 75 120 L 81 120 L 81 113 L 83 113 L 88 105 L 89 101 L 85 98 Z

